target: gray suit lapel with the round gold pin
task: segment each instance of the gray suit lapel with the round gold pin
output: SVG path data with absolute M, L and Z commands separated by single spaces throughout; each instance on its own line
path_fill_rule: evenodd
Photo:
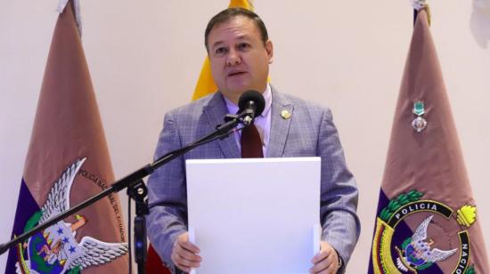
M 282 93 L 278 93 L 273 86 L 271 86 L 271 91 L 273 102 L 271 106 L 271 133 L 267 157 L 282 157 L 290 131 L 291 118 L 283 118 L 281 112 L 284 110 L 289 111 L 292 117 L 294 106 Z

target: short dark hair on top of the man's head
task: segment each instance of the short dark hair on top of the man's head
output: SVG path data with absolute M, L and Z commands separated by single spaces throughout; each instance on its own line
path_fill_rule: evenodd
M 264 21 L 258 17 L 257 13 L 251 12 L 247 9 L 243 8 L 229 8 L 217 13 L 211 20 L 208 22 L 208 27 L 206 27 L 206 31 L 204 32 L 204 45 L 206 45 L 206 50 L 208 49 L 208 36 L 213 28 L 217 25 L 225 23 L 227 20 L 230 20 L 236 16 L 244 16 L 251 20 L 253 20 L 260 31 L 260 36 L 262 37 L 262 42 L 267 42 L 269 39 L 269 35 L 267 34 L 267 28 L 265 28 Z

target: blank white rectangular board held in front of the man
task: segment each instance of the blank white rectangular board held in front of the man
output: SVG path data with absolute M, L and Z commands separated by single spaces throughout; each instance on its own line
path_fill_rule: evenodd
M 187 160 L 197 273 L 307 273 L 319 249 L 320 170 L 320 157 Z

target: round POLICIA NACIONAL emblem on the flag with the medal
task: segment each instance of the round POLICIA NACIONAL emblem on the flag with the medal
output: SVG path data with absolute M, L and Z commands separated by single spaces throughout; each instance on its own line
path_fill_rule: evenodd
M 474 265 L 470 265 L 470 235 L 467 230 L 476 221 L 476 207 L 464 205 L 453 210 L 441 202 L 421 197 L 423 193 L 412 189 L 389 200 L 388 205 L 380 211 L 372 242 L 374 273 L 430 271 L 435 262 L 445 261 L 458 254 L 459 259 L 451 273 L 476 273 Z M 399 224 L 405 218 L 422 213 L 429 213 L 429 216 L 418 224 L 414 232 L 400 228 Z M 435 215 L 442 217 L 443 222 L 433 223 Z M 431 225 L 437 226 L 441 233 L 449 233 L 444 229 L 444 222 L 457 222 L 461 228 L 457 232 L 457 242 L 449 241 L 453 247 L 448 249 L 441 248 L 442 243 L 431 238 L 436 235 L 428 233 Z

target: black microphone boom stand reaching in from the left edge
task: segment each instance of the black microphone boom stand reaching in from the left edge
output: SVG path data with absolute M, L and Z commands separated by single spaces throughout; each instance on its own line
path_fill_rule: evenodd
M 17 245 L 30 236 L 34 235 L 37 231 L 45 230 L 46 228 L 52 226 L 55 222 L 60 222 L 61 220 L 66 219 L 72 214 L 77 213 L 81 209 L 86 208 L 88 205 L 92 205 L 95 202 L 99 201 L 103 197 L 107 197 L 114 192 L 118 192 L 121 189 L 126 189 L 129 197 L 134 198 L 136 201 L 136 217 L 135 217 L 135 262 L 138 264 L 138 273 L 144 273 L 144 262 L 146 262 L 146 224 L 145 224 L 145 215 L 148 214 L 148 202 L 144 199 L 148 190 L 146 189 L 143 178 L 153 173 L 157 168 L 161 165 L 167 164 L 169 161 L 175 159 L 176 157 L 180 157 L 184 155 L 191 149 L 199 147 L 209 141 L 215 141 L 217 139 L 225 139 L 236 131 L 234 129 L 235 126 L 239 124 L 243 124 L 247 126 L 247 123 L 244 123 L 243 117 L 245 117 L 247 113 L 241 113 L 239 115 L 231 115 L 228 114 L 225 116 L 225 124 L 216 125 L 216 130 L 212 133 L 208 133 L 208 135 L 200 138 L 197 141 L 194 141 L 181 149 L 176 149 L 174 151 L 170 151 L 167 154 L 159 157 L 152 164 L 144 165 L 142 168 L 136 170 L 133 173 L 128 174 L 126 177 L 115 181 L 110 188 L 103 190 L 99 194 L 94 197 L 90 197 L 86 199 L 86 201 L 71 207 L 69 210 L 58 214 L 51 218 L 50 220 L 38 224 L 35 228 L 24 232 L 20 236 L 13 238 L 11 241 L 0 244 L 0 254 L 4 254 L 9 248 L 14 245 Z M 241 129 L 241 128 L 240 128 Z M 238 130 L 240 130 L 238 129 Z M 131 233 L 131 231 L 128 231 Z

